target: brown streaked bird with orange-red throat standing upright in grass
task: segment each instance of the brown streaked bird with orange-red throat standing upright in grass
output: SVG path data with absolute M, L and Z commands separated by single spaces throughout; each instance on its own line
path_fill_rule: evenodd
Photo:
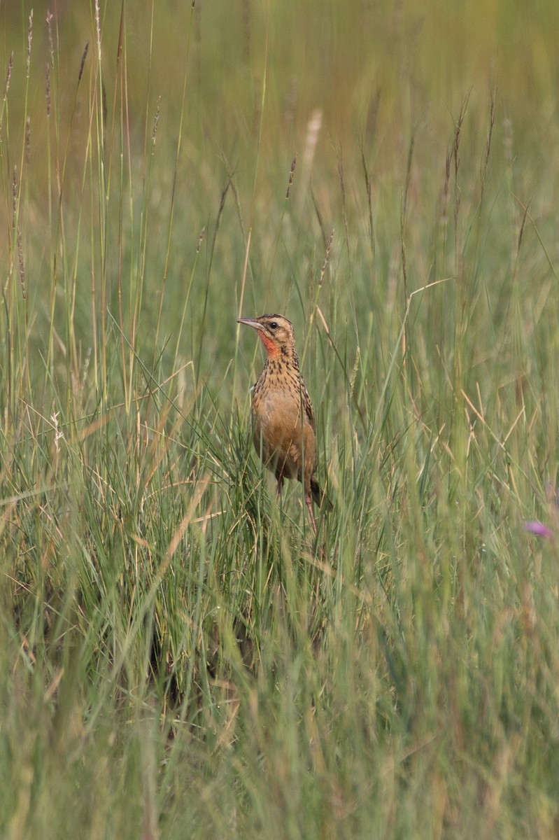
M 238 318 L 238 323 L 255 329 L 266 351 L 264 368 L 251 389 L 254 449 L 274 473 L 278 495 L 284 479 L 300 480 L 316 535 L 312 502 L 318 507 L 325 500 L 329 508 L 332 504 L 315 478 L 315 412 L 300 375 L 293 324 L 283 315 Z

